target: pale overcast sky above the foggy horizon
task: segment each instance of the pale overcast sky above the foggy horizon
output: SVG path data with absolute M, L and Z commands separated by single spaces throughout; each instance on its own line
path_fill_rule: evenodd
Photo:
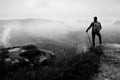
M 0 18 L 120 18 L 120 0 L 0 0 Z

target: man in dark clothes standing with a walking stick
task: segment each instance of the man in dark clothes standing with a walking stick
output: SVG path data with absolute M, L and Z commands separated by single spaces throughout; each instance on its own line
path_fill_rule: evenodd
M 86 32 L 88 32 L 88 30 L 90 28 L 92 28 L 93 47 L 95 46 L 95 36 L 96 35 L 99 37 L 99 44 L 101 45 L 102 44 L 102 40 L 101 40 L 100 30 L 102 29 L 102 27 L 101 27 L 101 23 L 97 21 L 97 17 L 94 17 L 94 22 L 91 23 L 91 25 L 88 27 Z

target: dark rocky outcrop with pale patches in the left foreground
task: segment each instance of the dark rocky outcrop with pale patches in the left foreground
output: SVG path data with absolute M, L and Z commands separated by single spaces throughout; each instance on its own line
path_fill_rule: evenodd
M 7 66 L 45 66 L 55 58 L 51 51 L 37 49 L 34 45 L 3 48 L 0 55 L 0 61 Z

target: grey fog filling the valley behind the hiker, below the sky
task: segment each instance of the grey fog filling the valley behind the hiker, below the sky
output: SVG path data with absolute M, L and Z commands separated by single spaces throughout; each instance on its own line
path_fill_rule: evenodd
M 89 44 L 85 30 L 91 22 L 92 20 L 80 19 L 72 21 L 35 18 L 4 19 L 0 20 L 0 44 L 4 47 L 19 46 L 40 43 L 41 40 L 49 39 L 74 43 L 78 47 L 82 45 L 84 48 Z M 110 38 L 116 39 L 116 34 L 120 32 L 120 21 L 108 23 L 103 20 L 100 22 L 103 27 L 101 31 L 103 40 L 106 42 L 107 40 L 113 41 Z M 89 36 L 90 34 L 91 31 L 89 31 Z

